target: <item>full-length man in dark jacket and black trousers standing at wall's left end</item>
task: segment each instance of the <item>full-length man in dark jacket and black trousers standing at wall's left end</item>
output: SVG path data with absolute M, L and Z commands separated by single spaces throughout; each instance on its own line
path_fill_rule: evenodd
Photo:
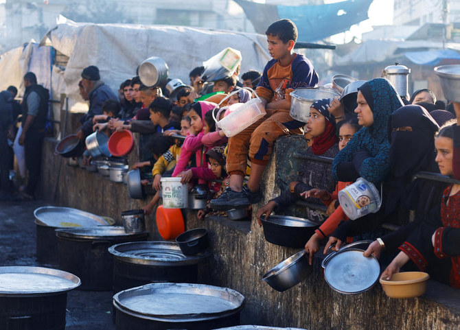
M 45 124 L 48 115 L 49 91 L 37 84 L 36 75 L 27 72 L 24 75 L 23 131 L 19 144 L 24 145 L 25 167 L 29 172 L 27 187 L 20 196 L 22 200 L 32 200 L 41 171 L 41 151 L 45 138 Z

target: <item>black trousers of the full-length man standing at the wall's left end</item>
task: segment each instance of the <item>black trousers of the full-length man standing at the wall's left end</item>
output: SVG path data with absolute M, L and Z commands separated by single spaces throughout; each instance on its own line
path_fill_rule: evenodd
M 25 153 L 25 167 L 29 172 L 29 179 L 27 180 L 27 187 L 25 193 L 34 196 L 38 179 L 41 172 L 41 152 L 43 149 L 43 139 L 45 132 L 36 132 L 28 130 L 25 134 L 24 153 Z

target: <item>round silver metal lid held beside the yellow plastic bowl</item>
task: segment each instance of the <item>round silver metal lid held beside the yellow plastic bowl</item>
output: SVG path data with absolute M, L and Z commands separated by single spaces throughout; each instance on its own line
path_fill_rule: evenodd
M 333 255 L 325 265 L 324 278 L 342 294 L 358 294 L 373 287 L 380 275 L 376 257 L 364 257 L 364 250 L 350 248 Z

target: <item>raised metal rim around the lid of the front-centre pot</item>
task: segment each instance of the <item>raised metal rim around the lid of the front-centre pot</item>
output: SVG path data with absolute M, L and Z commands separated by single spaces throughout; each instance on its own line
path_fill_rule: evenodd
M 123 305 L 120 301 L 124 295 L 130 296 L 135 294 L 136 291 L 141 292 L 141 290 L 146 290 L 148 292 L 153 292 L 155 287 L 172 287 L 174 289 L 183 288 L 183 290 L 189 290 L 189 292 L 193 292 L 195 294 L 200 293 L 200 290 L 203 292 L 224 292 L 224 296 L 227 298 L 233 297 L 236 302 L 239 304 L 238 307 L 234 307 L 233 309 L 229 309 L 227 311 L 216 311 L 212 313 L 203 312 L 200 314 L 183 314 L 179 316 L 178 314 L 163 314 L 161 316 L 157 315 L 149 315 L 143 313 L 142 311 L 135 311 Z M 183 292 L 179 292 L 182 293 Z M 198 322 L 203 320 L 215 320 L 218 318 L 223 318 L 225 316 L 231 316 L 240 312 L 245 303 L 245 298 L 240 292 L 229 289 L 227 287 L 217 287 L 214 285 L 206 285 L 206 284 L 195 284 L 195 283 L 150 283 L 146 285 L 142 285 L 140 287 L 133 287 L 132 289 L 124 290 L 122 292 L 118 292 L 113 296 L 113 305 L 125 312 L 126 314 L 130 314 L 131 316 L 135 316 L 137 318 L 144 318 L 146 320 L 156 320 L 156 321 L 163 321 L 163 322 Z

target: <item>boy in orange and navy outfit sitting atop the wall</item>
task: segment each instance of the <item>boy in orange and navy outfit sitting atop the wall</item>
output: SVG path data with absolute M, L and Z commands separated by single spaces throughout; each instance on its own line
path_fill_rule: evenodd
M 225 193 L 211 200 L 218 211 L 248 207 L 262 200 L 259 185 L 270 159 L 275 140 L 287 134 L 302 134 L 305 123 L 289 115 L 290 100 L 286 89 L 314 87 L 318 75 L 313 65 L 293 49 L 297 41 L 297 27 L 288 19 L 276 21 L 266 30 L 270 60 L 264 69 L 256 93 L 262 100 L 267 115 L 229 139 L 227 172 L 230 186 Z M 247 158 L 251 159 L 251 176 L 243 186 Z

